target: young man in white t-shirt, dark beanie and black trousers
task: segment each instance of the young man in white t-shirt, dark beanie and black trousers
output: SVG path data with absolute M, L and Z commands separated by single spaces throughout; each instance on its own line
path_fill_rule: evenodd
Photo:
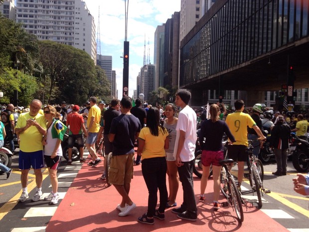
M 176 93 L 175 104 L 182 109 L 178 115 L 174 157 L 183 189 L 183 203 L 173 213 L 184 220 L 196 221 L 197 208 L 193 190 L 193 165 L 196 143 L 196 113 L 188 106 L 191 93 L 181 90 Z

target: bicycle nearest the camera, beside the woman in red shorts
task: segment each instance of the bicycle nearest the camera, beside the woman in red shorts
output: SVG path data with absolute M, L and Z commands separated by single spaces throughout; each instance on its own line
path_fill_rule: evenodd
M 222 165 L 220 189 L 227 200 L 227 202 L 222 203 L 222 207 L 230 205 L 233 208 L 233 211 L 235 211 L 239 222 L 243 222 L 244 212 L 242 208 L 242 200 L 240 197 L 240 193 L 237 189 L 235 180 L 233 178 L 233 175 L 229 172 L 228 169 L 228 166 L 230 166 L 233 163 L 234 160 L 232 159 L 221 160 L 219 162 L 219 164 Z M 224 191 L 225 188 L 227 190 L 226 192 Z

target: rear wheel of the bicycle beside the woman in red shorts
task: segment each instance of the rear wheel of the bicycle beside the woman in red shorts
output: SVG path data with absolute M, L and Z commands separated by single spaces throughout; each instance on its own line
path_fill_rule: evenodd
M 241 205 L 241 198 L 233 177 L 229 177 L 229 197 L 230 204 L 234 208 L 237 218 L 240 222 L 244 221 L 244 212 Z

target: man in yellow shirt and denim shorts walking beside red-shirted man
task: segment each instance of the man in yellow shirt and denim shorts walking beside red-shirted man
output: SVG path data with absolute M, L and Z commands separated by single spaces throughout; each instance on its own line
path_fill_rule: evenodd
M 95 167 L 102 160 L 98 157 L 96 153 L 95 143 L 100 130 L 100 120 L 101 120 L 101 109 L 97 106 L 97 98 L 90 98 L 90 110 L 87 119 L 87 131 L 86 131 L 86 148 L 88 149 L 92 161 L 88 163 L 88 166 Z

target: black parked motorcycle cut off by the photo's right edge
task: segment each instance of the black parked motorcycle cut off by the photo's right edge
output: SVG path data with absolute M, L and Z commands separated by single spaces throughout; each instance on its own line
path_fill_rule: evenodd
M 292 137 L 290 152 L 294 168 L 304 173 L 309 169 L 309 142 L 297 136 Z

